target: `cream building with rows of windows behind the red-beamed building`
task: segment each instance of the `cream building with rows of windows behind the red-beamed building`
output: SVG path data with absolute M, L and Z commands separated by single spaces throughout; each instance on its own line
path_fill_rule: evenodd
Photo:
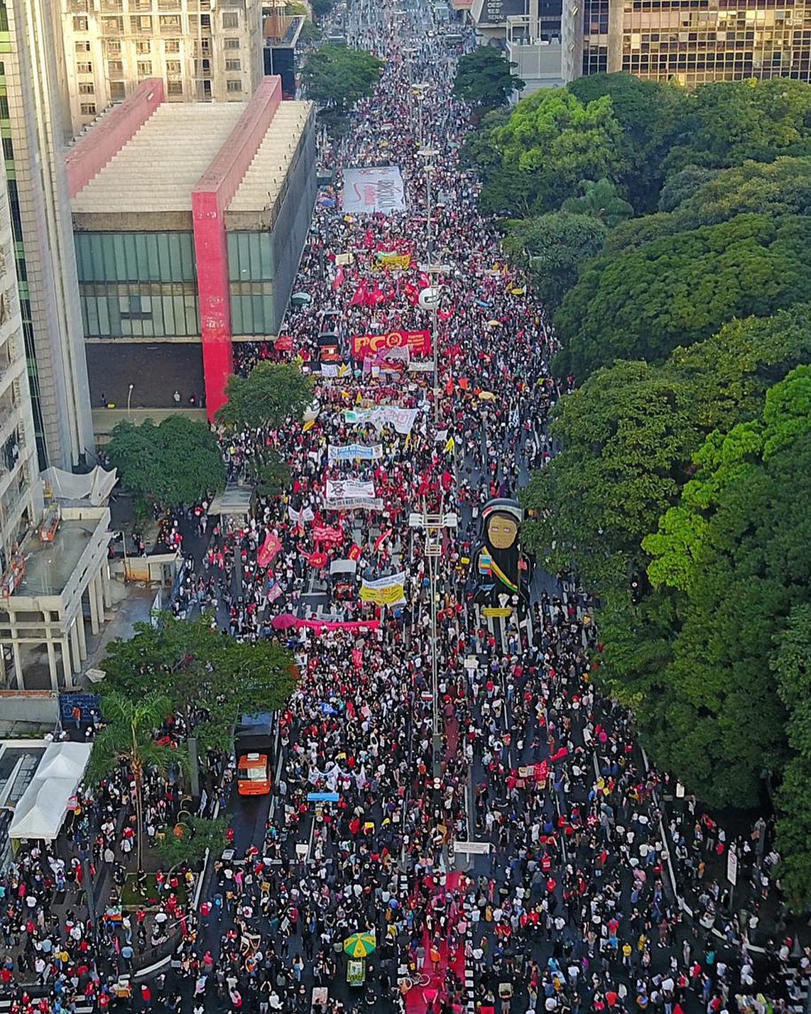
M 247 100 L 264 74 L 262 0 L 54 0 L 74 134 L 140 81 L 169 101 Z

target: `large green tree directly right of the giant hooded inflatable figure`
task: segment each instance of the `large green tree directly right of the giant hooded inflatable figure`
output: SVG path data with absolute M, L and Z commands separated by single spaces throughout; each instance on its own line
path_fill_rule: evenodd
M 558 404 L 561 452 L 524 493 L 525 537 L 547 567 L 601 589 L 626 581 L 643 536 L 678 498 L 698 443 L 691 409 L 686 384 L 642 362 L 598 370 Z

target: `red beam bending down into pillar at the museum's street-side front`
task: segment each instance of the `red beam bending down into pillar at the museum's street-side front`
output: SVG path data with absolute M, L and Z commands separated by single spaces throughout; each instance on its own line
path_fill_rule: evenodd
M 225 210 L 282 101 L 282 79 L 265 77 L 214 161 L 192 192 L 203 374 L 209 420 L 225 402 L 233 372 Z

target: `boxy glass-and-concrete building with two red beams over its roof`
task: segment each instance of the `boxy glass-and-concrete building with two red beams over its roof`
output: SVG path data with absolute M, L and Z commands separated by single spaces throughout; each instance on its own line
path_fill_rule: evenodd
M 290 297 L 315 200 L 312 103 L 266 77 L 246 103 L 177 105 L 153 79 L 67 164 L 93 402 L 211 418 L 233 342 L 278 334 Z

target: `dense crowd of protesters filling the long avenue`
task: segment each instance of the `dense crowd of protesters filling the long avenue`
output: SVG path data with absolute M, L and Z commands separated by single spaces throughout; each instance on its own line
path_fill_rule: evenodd
M 167 922 L 179 945 L 171 968 L 128 1001 L 139 1009 L 723 1014 L 739 996 L 765 1011 L 765 995 L 788 1009 L 808 955 L 764 939 L 757 907 L 736 909 L 718 872 L 735 847 L 740 880 L 766 902 L 766 826 L 728 841 L 690 799 L 664 816 L 674 786 L 648 767 L 628 714 L 592 689 L 590 603 L 570 581 L 536 574 L 527 607 L 482 608 L 468 566 L 482 509 L 549 459 L 547 417 L 574 379 L 552 379 L 543 308 L 477 210 L 459 159 L 469 111 L 449 89 L 460 47 L 438 10 L 349 0 L 344 18 L 350 45 L 385 68 L 322 152 L 336 182 L 313 214 L 296 281 L 306 298 L 289 310 L 285 342 L 243 347 L 237 363 L 297 360 L 314 377 L 313 408 L 303 426 L 222 435 L 230 479 L 273 451 L 291 485 L 256 497 L 242 522 L 209 524 L 203 504 L 162 534 L 178 545 L 185 530 L 204 547 L 189 554 L 178 614 L 211 608 L 230 636 L 282 638 L 296 652 L 267 827 L 234 836 L 197 918 L 168 884 L 157 898 L 166 918 L 151 916 L 149 931 L 139 909 L 88 932 L 70 910 L 55 917 L 50 899 L 72 885 L 78 902 L 81 859 L 112 876 L 126 859 L 131 825 L 116 814 L 128 787 L 110 781 L 74 865 L 31 848 L 4 878 L 0 931 L 19 956 L 0 977 L 51 990 L 44 1007 L 17 991 L 12 1009 L 59 1012 L 76 994 L 106 1007 L 105 969 L 129 970 Z M 406 207 L 347 213 L 343 169 L 389 164 Z M 376 270 L 381 252 L 411 265 Z M 431 285 L 442 293 L 435 316 L 419 302 Z M 329 309 L 343 348 L 322 369 Z M 393 331 L 432 333 L 436 378 L 430 356 L 416 369 L 353 358 L 352 336 Z M 330 454 L 350 444 L 368 460 Z M 347 482 L 372 484 L 361 499 L 373 503 L 330 506 L 327 484 Z M 456 525 L 409 523 L 423 512 Z M 362 580 L 386 577 L 401 580 L 400 600 L 361 598 Z M 153 829 L 162 791 L 148 801 Z M 191 894 L 191 881 L 182 887 Z M 359 988 L 346 985 L 352 934 L 375 943 Z

